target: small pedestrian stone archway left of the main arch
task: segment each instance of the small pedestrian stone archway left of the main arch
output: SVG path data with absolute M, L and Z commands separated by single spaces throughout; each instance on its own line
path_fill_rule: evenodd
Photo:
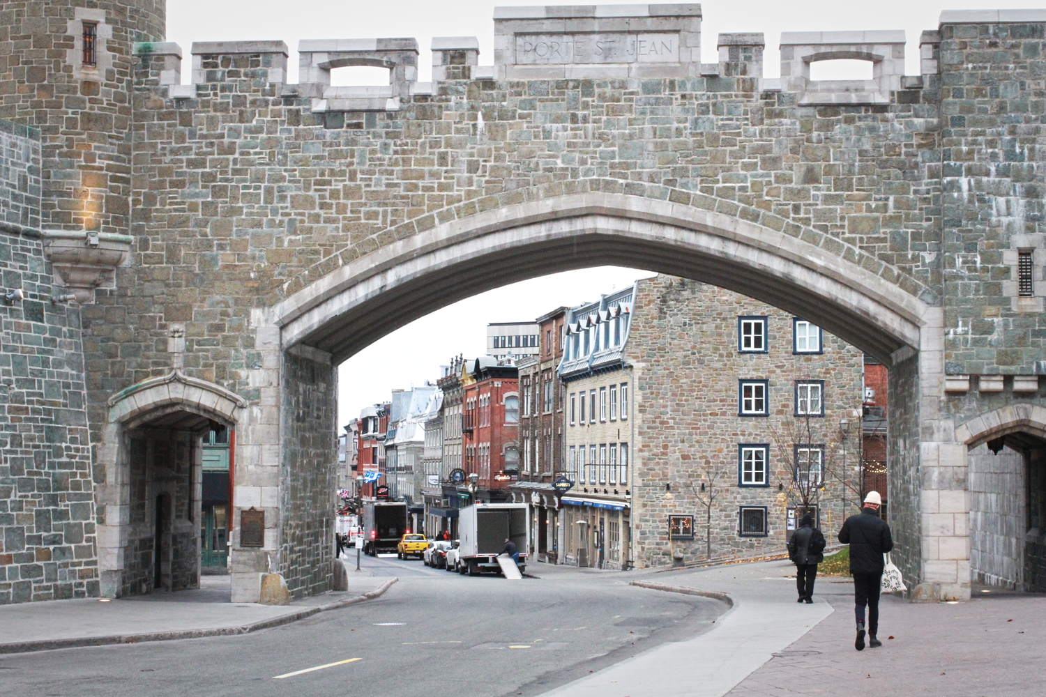
M 235 427 L 247 400 L 179 369 L 109 399 L 98 444 L 101 594 L 199 585 L 200 436 Z

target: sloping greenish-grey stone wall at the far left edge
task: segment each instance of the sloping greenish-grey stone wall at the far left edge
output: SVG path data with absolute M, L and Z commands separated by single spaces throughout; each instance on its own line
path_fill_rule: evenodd
M 40 191 L 39 132 L 0 121 L 0 294 L 26 296 L 0 304 L 0 604 L 98 594 L 79 313 L 48 302 Z

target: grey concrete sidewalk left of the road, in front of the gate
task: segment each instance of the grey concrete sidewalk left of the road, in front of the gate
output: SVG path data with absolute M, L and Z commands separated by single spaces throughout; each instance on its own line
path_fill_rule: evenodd
M 177 593 L 3 605 L 0 654 L 243 634 L 378 597 L 395 580 L 355 574 L 348 579 L 346 591 L 282 606 L 229 602 L 228 576 L 204 576 L 200 588 Z

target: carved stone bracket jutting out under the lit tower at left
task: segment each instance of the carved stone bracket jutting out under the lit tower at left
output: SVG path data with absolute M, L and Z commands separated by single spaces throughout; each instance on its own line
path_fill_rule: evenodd
M 112 279 L 134 241 L 130 235 L 93 230 L 45 230 L 43 238 L 55 282 L 81 304 L 94 302 L 94 289 Z

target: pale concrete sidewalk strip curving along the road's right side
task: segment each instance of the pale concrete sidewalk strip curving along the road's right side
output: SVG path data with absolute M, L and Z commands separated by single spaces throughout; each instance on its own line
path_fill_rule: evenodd
M 794 574 L 787 560 L 643 574 L 642 581 L 725 594 L 733 607 L 711 631 L 663 644 L 542 697 L 725 695 L 834 611 L 819 598 L 813 605 L 796 603 L 795 579 L 787 578 Z

